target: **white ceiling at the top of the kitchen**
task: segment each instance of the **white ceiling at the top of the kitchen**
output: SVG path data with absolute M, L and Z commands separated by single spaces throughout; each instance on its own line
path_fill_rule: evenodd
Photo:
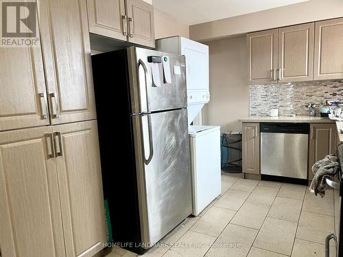
M 154 7 L 194 25 L 308 0 L 154 0 Z

